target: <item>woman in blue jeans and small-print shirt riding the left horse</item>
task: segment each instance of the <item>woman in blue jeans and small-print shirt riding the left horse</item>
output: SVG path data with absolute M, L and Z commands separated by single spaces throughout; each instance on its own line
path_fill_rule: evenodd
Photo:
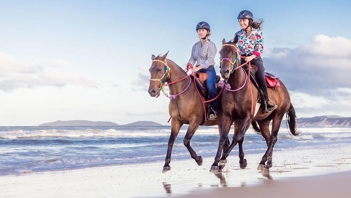
M 191 57 L 189 59 L 188 65 L 195 65 L 191 71 L 192 72 L 202 72 L 208 74 L 206 80 L 206 86 L 208 89 L 208 95 L 213 99 L 217 97 L 216 90 L 216 70 L 214 70 L 214 56 L 216 56 L 217 48 L 214 43 L 208 39 L 211 35 L 210 25 L 208 23 L 201 21 L 196 26 L 196 31 L 200 37 L 200 41 L 195 43 L 193 49 L 191 50 Z M 188 69 L 185 69 L 185 72 L 188 72 Z M 218 112 L 218 102 L 217 99 L 212 101 L 212 111 L 208 119 L 214 120 L 217 118 Z

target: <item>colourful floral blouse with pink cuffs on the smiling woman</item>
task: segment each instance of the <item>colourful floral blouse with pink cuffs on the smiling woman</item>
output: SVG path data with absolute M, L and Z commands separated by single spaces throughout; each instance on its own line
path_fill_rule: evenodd
M 254 54 L 257 57 L 263 52 L 263 36 L 262 31 L 253 27 L 251 34 L 246 37 L 245 30 L 241 29 L 235 33 L 234 38 L 238 35 L 238 43 L 236 44 L 240 54 Z

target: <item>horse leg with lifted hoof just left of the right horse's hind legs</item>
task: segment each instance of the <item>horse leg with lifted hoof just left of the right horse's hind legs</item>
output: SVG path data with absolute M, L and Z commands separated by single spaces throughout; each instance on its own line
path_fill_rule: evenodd
M 239 144 L 239 165 L 241 169 L 246 168 L 247 161 L 244 158 L 244 151 L 243 151 L 243 142 L 246 130 L 249 129 L 250 124 L 252 121 L 252 117 L 250 114 L 245 114 L 244 117 L 241 119 L 241 126 L 239 129 L 239 134 L 237 135 L 237 141 Z

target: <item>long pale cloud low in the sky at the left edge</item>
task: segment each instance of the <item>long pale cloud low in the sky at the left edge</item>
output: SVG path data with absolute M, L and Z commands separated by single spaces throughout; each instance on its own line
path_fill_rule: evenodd
M 24 64 L 11 55 L 0 52 L 0 90 L 36 86 L 62 87 L 67 84 L 97 87 L 98 83 L 86 76 L 75 76 L 55 69 L 68 65 L 63 60 L 53 59 L 42 63 Z

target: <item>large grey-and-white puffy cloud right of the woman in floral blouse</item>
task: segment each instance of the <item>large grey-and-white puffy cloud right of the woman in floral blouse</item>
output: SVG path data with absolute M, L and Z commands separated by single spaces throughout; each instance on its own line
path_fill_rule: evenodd
M 279 76 L 289 90 L 324 95 L 351 87 L 351 40 L 317 35 L 295 49 L 274 48 L 263 58 L 267 72 Z

